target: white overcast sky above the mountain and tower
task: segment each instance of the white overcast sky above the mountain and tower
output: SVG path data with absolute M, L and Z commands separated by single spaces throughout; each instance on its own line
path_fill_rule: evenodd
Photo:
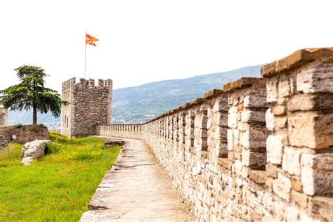
M 333 43 L 333 1 L 1 0 L 0 89 L 20 65 L 43 67 L 46 86 L 84 77 L 114 89 L 270 63 Z

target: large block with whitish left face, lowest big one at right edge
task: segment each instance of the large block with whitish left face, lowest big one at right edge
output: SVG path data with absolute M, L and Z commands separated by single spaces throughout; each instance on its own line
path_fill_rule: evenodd
M 333 153 L 302 154 L 301 181 L 307 195 L 333 193 Z

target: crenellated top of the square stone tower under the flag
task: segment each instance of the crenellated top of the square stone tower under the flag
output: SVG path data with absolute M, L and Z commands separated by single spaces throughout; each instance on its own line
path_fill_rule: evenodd
M 80 78 L 76 82 L 76 78 L 69 79 L 63 82 L 63 92 L 70 90 L 112 90 L 112 80 L 111 79 L 98 79 L 97 86 L 95 84 L 95 79 L 84 79 Z

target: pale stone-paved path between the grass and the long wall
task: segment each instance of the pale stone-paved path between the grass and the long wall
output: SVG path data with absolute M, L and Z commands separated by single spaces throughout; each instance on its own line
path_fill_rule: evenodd
M 145 143 L 122 140 L 81 221 L 194 221 Z

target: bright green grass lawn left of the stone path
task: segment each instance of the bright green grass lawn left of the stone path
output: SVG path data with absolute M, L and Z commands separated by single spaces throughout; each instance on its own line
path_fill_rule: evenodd
M 51 132 L 46 155 L 20 164 L 22 145 L 0 150 L 0 221 L 79 221 L 120 147 Z

